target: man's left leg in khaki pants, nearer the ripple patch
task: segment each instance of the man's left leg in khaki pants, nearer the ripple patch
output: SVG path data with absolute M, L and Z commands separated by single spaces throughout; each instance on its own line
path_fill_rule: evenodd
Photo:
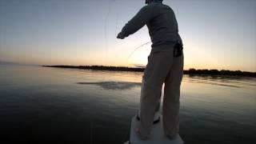
M 171 53 L 172 54 L 172 53 Z M 142 139 L 150 137 L 150 130 L 154 121 L 154 112 L 158 105 L 159 94 L 166 74 L 170 70 L 170 53 L 160 52 L 150 54 L 149 62 L 144 72 L 141 94 L 141 118 L 138 130 Z

